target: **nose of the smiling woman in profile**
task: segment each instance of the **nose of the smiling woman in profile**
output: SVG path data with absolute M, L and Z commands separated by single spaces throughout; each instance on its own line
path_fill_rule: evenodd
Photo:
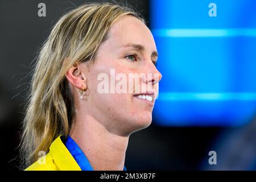
M 154 63 L 150 61 L 151 63 L 148 63 L 146 69 L 146 77 L 143 77 L 144 83 L 150 83 L 152 85 L 157 84 L 162 79 L 162 74 L 156 69 Z

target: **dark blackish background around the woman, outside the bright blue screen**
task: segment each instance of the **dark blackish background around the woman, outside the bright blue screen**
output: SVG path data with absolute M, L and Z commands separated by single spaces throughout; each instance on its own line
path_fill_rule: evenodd
M 40 2 L 46 3 L 46 17 L 38 16 Z M 18 170 L 15 158 L 32 60 L 57 19 L 84 2 L 91 1 L 0 1 L 0 169 Z M 150 27 L 150 2 L 122 2 L 135 7 Z M 255 128 L 255 121 L 237 128 L 159 127 L 153 121 L 131 135 L 125 166 L 128 170 L 256 169 L 252 166 Z M 250 150 L 244 152 L 245 147 Z M 208 164 L 211 150 L 220 156 L 217 166 Z

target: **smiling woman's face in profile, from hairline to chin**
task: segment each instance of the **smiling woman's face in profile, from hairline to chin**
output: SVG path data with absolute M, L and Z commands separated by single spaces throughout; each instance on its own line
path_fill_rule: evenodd
M 118 135 L 127 136 L 150 125 L 158 82 L 162 77 L 155 67 L 156 60 L 154 38 L 141 20 L 126 15 L 115 22 L 108 39 L 101 43 L 94 62 L 83 67 L 89 89 L 84 103 L 90 109 L 86 111 Z M 108 82 L 100 79 L 100 75 L 108 76 Z M 118 75 L 122 75 L 119 80 Z M 138 75 L 139 80 L 135 81 Z M 131 81 L 129 77 L 135 79 Z M 109 93 L 99 90 L 102 82 L 109 85 Z M 125 85 L 126 89 L 123 89 Z M 122 89 L 121 93 L 118 88 Z

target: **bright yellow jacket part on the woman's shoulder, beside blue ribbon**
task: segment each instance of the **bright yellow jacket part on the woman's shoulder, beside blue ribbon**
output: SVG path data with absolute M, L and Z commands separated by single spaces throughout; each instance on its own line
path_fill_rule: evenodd
M 61 136 L 60 136 L 61 137 Z M 49 152 L 44 159 L 39 159 L 26 171 L 81 171 L 81 168 L 73 158 L 71 153 L 65 147 L 61 138 L 56 138 L 51 146 Z M 43 163 L 42 163 L 43 162 Z

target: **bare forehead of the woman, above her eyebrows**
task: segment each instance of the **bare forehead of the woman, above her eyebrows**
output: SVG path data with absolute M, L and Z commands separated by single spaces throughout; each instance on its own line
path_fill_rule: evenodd
M 138 18 L 126 15 L 113 24 L 108 40 L 112 47 L 127 44 L 141 44 L 149 51 L 155 51 L 155 41 L 148 27 Z

